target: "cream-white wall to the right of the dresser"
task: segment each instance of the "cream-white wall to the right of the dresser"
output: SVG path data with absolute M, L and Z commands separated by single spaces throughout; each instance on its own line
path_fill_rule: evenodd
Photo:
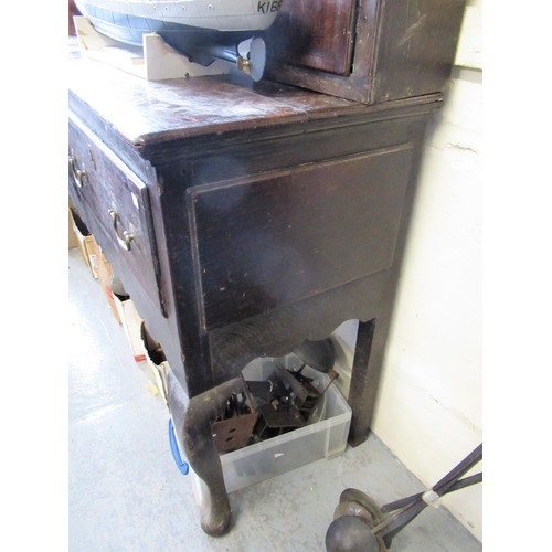
M 468 2 L 457 66 L 426 135 L 373 423 L 428 487 L 482 442 L 481 7 Z M 481 493 L 477 485 L 443 501 L 479 540 Z

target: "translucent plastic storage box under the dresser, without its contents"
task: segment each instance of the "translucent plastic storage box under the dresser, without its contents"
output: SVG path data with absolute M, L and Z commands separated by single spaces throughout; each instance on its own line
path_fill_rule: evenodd
M 277 359 L 289 368 L 295 357 Z M 274 371 L 273 359 L 257 359 L 250 363 L 244 375 L 246 380 L 265 381 Z M 315 378 L 312 384 L 319 390 L 330 383 L 328 375 L 305 368 L 304 375 Z M 317 408 L 320 418 L 305 427 L 294 429 L 278 437 L 221 455 L 226 491 L 233 492 L 258 481 L 279 476 L 321 458 L 331 458 L 344 453 L 351 425 L 351 408 L 332 383 L 323 394 L 323 403 Z M 193 474 L 193 470 L 190 470 Z M 201 479 L 195 479 L 197 498 L 203 496 Z

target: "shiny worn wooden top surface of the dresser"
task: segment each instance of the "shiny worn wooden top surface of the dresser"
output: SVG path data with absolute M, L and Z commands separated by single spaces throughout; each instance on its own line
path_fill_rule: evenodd
M 363 104 L 229 75 L 151 82 L 73 53 L 73 99 L 88 106 L 135 146 L 302 123 L 364 110 Z

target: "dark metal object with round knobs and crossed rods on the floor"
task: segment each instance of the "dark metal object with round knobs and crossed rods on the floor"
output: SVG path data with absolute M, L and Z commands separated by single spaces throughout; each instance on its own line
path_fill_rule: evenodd
M 442 496 L 482 481 L 482 471 L 460 479 L 482 459 L 482 444 L 450 470 L 432 489 L 382 507 L 358 489 L 346 489 L 326 533 L 328 552 L 385 552 L 393 538 L 427 506 Z

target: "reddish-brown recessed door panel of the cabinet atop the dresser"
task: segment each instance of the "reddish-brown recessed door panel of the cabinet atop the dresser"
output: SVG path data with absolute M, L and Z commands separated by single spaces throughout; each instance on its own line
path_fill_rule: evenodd
M 274 23 L 278 62 L 349 74 L 355 0 L 288 0 Z

